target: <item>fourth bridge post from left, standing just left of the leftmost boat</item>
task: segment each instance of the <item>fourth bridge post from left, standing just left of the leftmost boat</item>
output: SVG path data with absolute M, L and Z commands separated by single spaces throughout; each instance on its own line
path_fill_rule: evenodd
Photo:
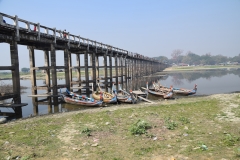
M 57 71 L 56 71 L 56 50 L 55 45 L 51 44 L 51 73 L 52 73 L 52 93 L 58 95 L 57 89 Z M 53 103 L 58 103 L 58 97 L 53 97 Z

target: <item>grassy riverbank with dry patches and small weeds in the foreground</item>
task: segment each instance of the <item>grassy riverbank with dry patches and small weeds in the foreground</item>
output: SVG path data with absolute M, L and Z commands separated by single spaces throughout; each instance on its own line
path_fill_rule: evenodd
M 239 159 L 240 94 L 113 105 L 0 125 L 0 159 Z M 223 114 L 225 116 L 223 118 Z

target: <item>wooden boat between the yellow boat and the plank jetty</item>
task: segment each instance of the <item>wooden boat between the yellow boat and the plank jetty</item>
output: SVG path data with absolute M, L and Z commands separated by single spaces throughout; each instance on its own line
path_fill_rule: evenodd
M 114 86 L 114 85 L 113 85 Z M 137 99 L 130 90 L 130 93 L 124 91 L 120 84 L 118 84 L 119 91 L 117 92 L 117 100 L 123 103 L 136 103 Z

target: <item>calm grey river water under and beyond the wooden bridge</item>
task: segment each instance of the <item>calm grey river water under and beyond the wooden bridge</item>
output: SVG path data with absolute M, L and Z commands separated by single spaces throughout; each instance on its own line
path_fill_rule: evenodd
M 163 73 L 160 73 L 161 75 Z M 165 74 L 165 73 L 164 73 Z M 154 76 L 147 79 L 149 86 L 151 82 L 159 82 L 164 86 L 177 88 L 192 89 L 195 84 L 198 85 L 196 95 L 210 95 L 218 93 L 231 93 L 240 92 L 240 69 L 221 69 L 221 70 L 207 70 L 207 71 L 184 71 L 184 72 L 169 72 L 165 76 Z M 11 84 L 11 80 L 4 80 L 5 84 Z M 38 105 L 38 113 L 34 113 L 34 107 L 32 103 L 31 95 L 31 81 L 21 80 L 21 86 L 26 86 L 28 89 L 24 90 L 21 94 L 22 103 L 28 103 L 27 106 L 22 107 L 23 118 L 29 117 L 30 115 L 43 115 L 52 114 L 58 112 L 67 112 L 72 110 L 86 109 L 86 107 L 60 104 L 58 106 L 47 106 Z M 37 80 L 37 86 L 44 84 L 43 80 Z M 58 84 L 64 84 L 63 80 L 58 80 Z M 130 81 L 129 86 L 133 90 L 137 90 L 140 87 L 146 86 L 146 78 L 139 77 L 137 81 Z M 38 94 L 44 93 L 45 91 L 38 91 Z M 184 98 L 184 97 L 182 97 Z M 8 100 L 6 100 L 8 101 Z M 11 101 L 11 100 L 9 100 Z M 0 108 L 2 112 L 11 112 L 9 108 Z

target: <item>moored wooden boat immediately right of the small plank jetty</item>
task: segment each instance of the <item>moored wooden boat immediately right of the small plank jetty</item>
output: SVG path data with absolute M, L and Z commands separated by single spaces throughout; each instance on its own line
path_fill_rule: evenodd
M 155 90 L 154 88 L 148 88 L 148 83 L 147 83 L 147 88 L 141 87 L 142 89 L 146 90 L 149 94 L 155 95 L 162 97 L 164 99 L 169 99 L 173 97 L 173 89 L 172 87 L 169 90 Z

